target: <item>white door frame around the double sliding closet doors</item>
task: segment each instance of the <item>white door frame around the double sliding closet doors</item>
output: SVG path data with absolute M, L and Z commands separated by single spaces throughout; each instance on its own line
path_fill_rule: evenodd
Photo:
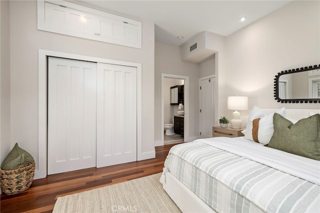
M 58 52 L 52 50 L 38 50 L 38 159 L 37 168 L 35 169 L 34 179 L 44 178 L 47 175 L 47 56 L 62 57 L 75 60 L 85 60 L 91 62 L 110 63 L 124 66 L 133 66 L 137 70 L 137 160 L 143 159 L 142 152 L 142 64 L 113 60 L 87 55 Z

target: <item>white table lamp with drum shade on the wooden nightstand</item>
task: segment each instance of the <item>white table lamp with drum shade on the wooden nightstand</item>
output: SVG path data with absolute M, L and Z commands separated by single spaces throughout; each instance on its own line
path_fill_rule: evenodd
M 235 110 L 232 113 L 232 119 L 230 124 L 232 128 L 241 128 L 242 120 L 240 119 L 240 112 L 237 110 L 247 110 L 248 109 L 248 97 L 247 96 L 228 96 L 227 102 L 228 109 Z

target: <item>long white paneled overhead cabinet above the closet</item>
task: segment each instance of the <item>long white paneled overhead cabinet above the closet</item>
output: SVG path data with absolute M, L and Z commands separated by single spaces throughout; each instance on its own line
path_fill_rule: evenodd
M 37 3 L 39 30 L 141 48 L 140 21 L 62 0 Z

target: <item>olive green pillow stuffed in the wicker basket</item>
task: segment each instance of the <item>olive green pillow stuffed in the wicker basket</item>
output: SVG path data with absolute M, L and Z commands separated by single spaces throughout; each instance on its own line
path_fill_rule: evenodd
M 18 143 L 15 143 L 12 150 L 8 153 L 2 162 L 2 170 L 12 170 L 28 165 L 26 162 L 33 163 L 34 159 L 29 152 L 20 148 Z

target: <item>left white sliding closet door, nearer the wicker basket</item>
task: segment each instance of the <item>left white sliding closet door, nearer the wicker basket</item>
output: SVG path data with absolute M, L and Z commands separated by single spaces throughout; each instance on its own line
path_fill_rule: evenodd
M 96 63 L 48 58 L 48 174 L 96 166 Z

